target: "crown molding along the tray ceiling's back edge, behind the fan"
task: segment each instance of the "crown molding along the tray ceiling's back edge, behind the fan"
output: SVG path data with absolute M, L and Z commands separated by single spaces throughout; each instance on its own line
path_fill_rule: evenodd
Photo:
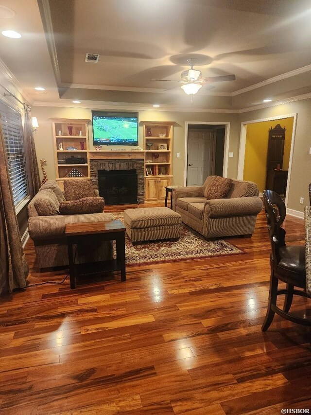
M 60 88 L 77 88 L 83 90 L 110 90 L 110 91 L 129 91 L 129 92 L 152 92 L 152 93 L 166 93 L 166 94 L 184 94 L 182 90 L 166 90 L 164 88 L 141 88 L 141 87 L 118 87 L 115 85 L 86 85 L 86 84 L 70 84 L 61 82 Z M 201 92 L 201 91 L 200 91 Z M 202 93 L 203 92 L 203 93 Z M 231 96 L 231 92 L 212 92 L 204 90 L 201 95 L 210 96 Z

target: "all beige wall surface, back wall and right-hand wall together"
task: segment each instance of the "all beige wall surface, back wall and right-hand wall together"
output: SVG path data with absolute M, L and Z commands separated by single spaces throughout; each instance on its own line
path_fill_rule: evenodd
M 96 109 L 96 108 L 94 108 Z M 118 108 L 116 108 L 118 111 Z M 311 99 L 301 100 L 290 104 L 264 108 L 242 114 L 231 113 L 195 113 L 195 112 L 166 112 L 166 111 L 139 111 L 139 121 L 175 121 L 173 143 L 173 184 L 184 183 L 185 170 L 185 122 L 213 121 L 230 122 L 229 151 L 234 157 L 228 160 L 228 177 L 236 178 L 238 171 L 238 152 L 240 142 L 241 123 L 256 121 L 280 115 L 297 113 L 297 126 L 294 142 L 293 168 L 288 194 L 288 208 L 303 212 L 304 206 L 309 203 L 308 185 L 311 182 Z M 52 123 L 49 118 L 91 118 L 91 110 L 87 108 L 64 107 L 33 107 L 33 116 L 37 117 L 39 128 L 35 134 L 37 157 L 47 160 L 46 171 L 49 179 L 55 178 Z M 139 145 L 142 146 L 142 127 L 139 127 Z M 90 148 L 92 148 L 92 134 L 90 128 Z M 180 159 L 176 153 L 180 152 Z M 304 204 L 299 204 L 300 197 Z

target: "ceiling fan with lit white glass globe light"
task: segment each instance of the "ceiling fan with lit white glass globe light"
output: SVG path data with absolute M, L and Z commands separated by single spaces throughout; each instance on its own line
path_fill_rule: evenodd
M 179 82 L 183 84 L 181 88 L 188 95 L 193 95 L 202 88 L 203 84 L 211 82 L 224 82 L 224 81 L 235 81 L 235 75 L 223 75 L 223 76 L 209 76 L 207 78 L 203 77 L 201 71 L 193 69 L 193 66 L 198 62 L 198 59 L 187 59 L 190 69 L 181 72 L 181 80 L 170 80 L 170 79 L 150 79 L 151 81 L 163 81 L 163 82 Z

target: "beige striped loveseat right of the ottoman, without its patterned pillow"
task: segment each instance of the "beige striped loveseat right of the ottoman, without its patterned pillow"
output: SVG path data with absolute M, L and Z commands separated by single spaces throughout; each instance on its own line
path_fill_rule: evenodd
M 174 188 L 173 210 L 183 223 L 206 238 L 252 235 L 262 209 L 256 183 L 232 180 L 225 198 L 207 200 L 205 189 L 216 177 L 207 177 L 203 186 Z

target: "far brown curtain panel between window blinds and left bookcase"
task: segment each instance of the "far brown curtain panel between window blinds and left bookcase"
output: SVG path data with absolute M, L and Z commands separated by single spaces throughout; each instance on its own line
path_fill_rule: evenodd
M 35 194 L 39 191 L 41 183 L 38 161 L 35 153 L 33 119 L 28 105 L 25 105 L 24 143 L 26 152 L 26 169 L 28 173 L 27 176 L 29 178 L 29 190 L 31 196 L 35 196 Z

